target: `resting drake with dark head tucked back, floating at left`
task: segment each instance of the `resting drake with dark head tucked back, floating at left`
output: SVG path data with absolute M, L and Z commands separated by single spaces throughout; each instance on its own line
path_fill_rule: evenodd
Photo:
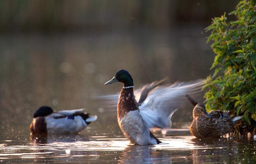
M 77 133 L 87 127 L 97 116 L 89 116 L 84 109 L 61 110 L 54 112 L 49 106 L 36 110 L 30 124 L 31 133 L 67 134 Z

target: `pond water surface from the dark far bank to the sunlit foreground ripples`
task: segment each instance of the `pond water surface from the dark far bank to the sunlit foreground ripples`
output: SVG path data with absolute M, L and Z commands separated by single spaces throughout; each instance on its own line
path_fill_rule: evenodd
M 136 88 L 165 77 L 169 82 L 205 78 L 214 59 L 205 26 L 1 36 L 0 163 L 256 163 L 253 138 L 200 141 L 187 132 L 156 131 L 166 144 L 129 146 L 116 108 L 92 98 L 119 92 L 120 83 L 103 85 L 118 69 L 131 73 Z M 30 136 L 33 112 L 41 105 L 86 108 L 99 119 L 79 135 Z M 188 105 L 175 112 L 173 127 L 188 128 L 191 120 Z

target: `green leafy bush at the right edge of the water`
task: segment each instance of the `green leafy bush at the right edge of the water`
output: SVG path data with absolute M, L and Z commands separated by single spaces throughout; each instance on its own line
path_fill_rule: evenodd
M 241 0 L 231 12 L 215 17 L 206 28 L 211 31 L 208 42 L 216 54 L 204 88 L 207 109 L 236 111 L 244 115 L 239 132 L 256 130 L 256 0 Z

